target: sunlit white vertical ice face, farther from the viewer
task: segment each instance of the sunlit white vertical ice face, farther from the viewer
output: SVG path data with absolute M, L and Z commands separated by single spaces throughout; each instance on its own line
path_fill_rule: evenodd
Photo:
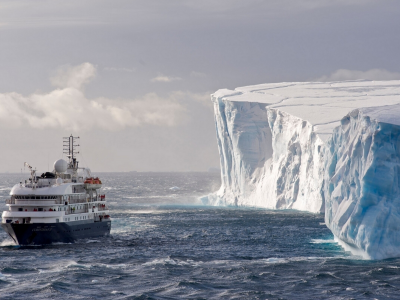
M 222 185 L 203 200 L 321 212 L 323 142 L 313 126 L 265 104 L 213 100 Z

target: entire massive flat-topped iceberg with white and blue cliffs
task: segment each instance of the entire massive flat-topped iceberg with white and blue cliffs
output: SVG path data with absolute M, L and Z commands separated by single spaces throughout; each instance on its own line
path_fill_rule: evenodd
M 212 95 L 222 185 L 208 205 L 324 213 L 346 247 L 400 256 L 400 81 Z

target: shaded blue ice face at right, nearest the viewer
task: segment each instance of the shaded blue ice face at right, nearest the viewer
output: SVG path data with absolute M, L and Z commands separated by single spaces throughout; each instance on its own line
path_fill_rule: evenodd
M 400 116 L 400 106 L 386 109 Z M 371 119 L 368 113 L 374 111 L 348 114 L 327 143 L 325 221 L 340 241 L 365 257 L 396 257 L 400 256 L 400 126 Z

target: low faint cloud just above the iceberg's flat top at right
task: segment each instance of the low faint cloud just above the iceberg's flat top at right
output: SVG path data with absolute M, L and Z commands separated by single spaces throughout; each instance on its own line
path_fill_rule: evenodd
M 385 69 L 371 69 L 368 71 L 339 69 L 328 76 L 322 76 L 314 81 L 343 81 L 357 79 L 395 80 L 400 79 L 400 73 L 390 72 Z

